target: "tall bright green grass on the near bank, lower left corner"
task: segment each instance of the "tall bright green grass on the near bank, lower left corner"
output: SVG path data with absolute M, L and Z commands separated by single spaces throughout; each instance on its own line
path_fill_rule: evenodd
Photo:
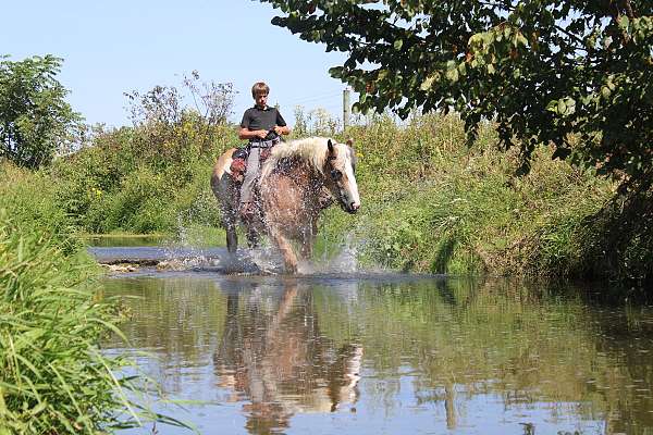
M 126 393 L 130 364 L 107 358 L 100 338 L 119 333 L 115 308 L 49 177 L 0 165 L 0 434 L 96 434 L 157 415 Z

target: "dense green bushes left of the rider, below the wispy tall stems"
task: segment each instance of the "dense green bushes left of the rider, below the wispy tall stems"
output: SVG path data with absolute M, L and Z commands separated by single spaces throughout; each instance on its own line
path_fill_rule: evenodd
M 238 139 L 231 126 L 211 126 L 207 133 L 201 117 L 184 115 L 181 122 L 97 130 L 91 146 L 54 162 L 50 174 L 59 207 L 90 233 L 173 233 L 190 222 L 217 225 L 208 179 L 218 156 Z M 156 136 L 184 137 L 184 144 L 159 154 L 156 149 L 167 145 L 148 142 L 152 128 L 172 128 Z

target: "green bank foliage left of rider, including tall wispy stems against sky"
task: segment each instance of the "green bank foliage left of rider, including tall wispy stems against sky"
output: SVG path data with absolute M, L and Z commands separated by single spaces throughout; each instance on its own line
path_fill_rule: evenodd
M 130 95 L 134 125 L 96 127 L 90 146 L 58 159 L 51 174 L 57 201 L 76 225 L 91 233 L 181 233 L 186 224 L 218 224 L 208 183 L 211 166 L 237 146 L 231 84 L 186 77 L 184 90 L 156 86 Z

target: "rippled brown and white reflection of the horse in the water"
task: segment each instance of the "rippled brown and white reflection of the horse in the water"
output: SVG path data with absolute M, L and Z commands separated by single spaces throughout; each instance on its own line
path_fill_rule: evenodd
M 250 433 L 283 430 L 296 413 L 333 412 L 358 400 L 362 347 L 336 348 L 320 334 L 311 293 L 289 284 L 273 310 L 264 301 L 227 295 L 221 346 L 214 356 L 219 386 L 244 407 Z

